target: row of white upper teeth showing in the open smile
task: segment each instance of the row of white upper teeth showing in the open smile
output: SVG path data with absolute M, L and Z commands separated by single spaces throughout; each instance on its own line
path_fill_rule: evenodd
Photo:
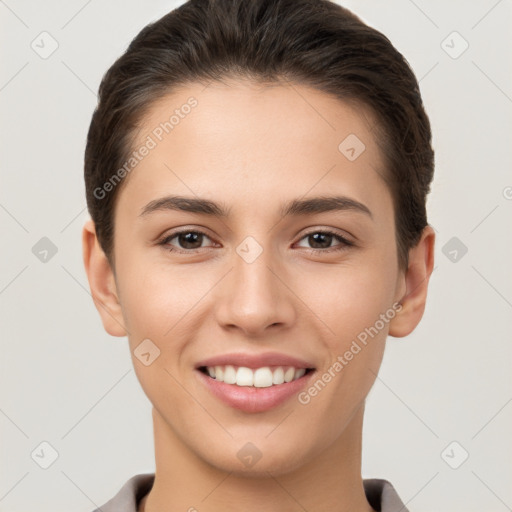
M 246 366 L 235 367 L 233 365 L 208 366 L 208 375 L 215 380 L 236 386 L 252 386 L 256 388 L 268 388 L 272 385 L 291 382 L 300 379 L 305 373 L 305 368 L 293 368 L 291 366 L 279 366 L 270 369 L 268 366 L 253 370 Z

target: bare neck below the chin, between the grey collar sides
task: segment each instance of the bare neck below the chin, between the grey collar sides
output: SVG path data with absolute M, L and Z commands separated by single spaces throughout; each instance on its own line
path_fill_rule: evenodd
M 267 477 L 238 476 L 199 458 L 153 408 L 155 480 L 138 512 L 374 512 L 361 478 L 364 404 L 343 434 L 299 469 Z

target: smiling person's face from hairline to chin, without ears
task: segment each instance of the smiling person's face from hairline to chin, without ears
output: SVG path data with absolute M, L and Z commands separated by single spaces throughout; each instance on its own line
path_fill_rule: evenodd
M 247 470 L 244 450 L 273 474 L 313 460 L 375 380 L 405 280 L 372 122 L 304 86 L 241 81 L 189 85 L 144 118 L 115 211 L 119 321 L 168 435 L 215 467 Z M 190 201 L 148 207 L 168 196 Z M 249 388 L 197 368 L 270 352 L 314 371 Z

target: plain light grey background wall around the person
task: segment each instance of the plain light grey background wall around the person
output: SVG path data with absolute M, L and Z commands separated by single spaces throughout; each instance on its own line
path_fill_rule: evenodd
M 101 76 L 180 3 L 0 1 L 2 512 L 89 512 L 154 471 L 150 403 L 83 269 L 82 163 Z M 388 339 L 363 476 L 390 480 L 411 511 L 511 510 L 511 0 L 342 3 L 410 62 L 436 151 L 428 304 L 412 335 Z M 59 45 L 47 59 L 31 48 L 43 31 Z M 458 58 L 453 31 L 469 43 Z M 47 262 L 32 252 L 42 237 L 58 249 Z M 455 262 L 452 237 L 468 249 Z M 43 441 L 58 452 L 48 469 L 31 457 Z

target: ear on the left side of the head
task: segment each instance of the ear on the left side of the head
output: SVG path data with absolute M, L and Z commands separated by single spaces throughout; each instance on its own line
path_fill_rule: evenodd
M 82 229 L 82 252 L 89 287 L 103 327 L 111 336 L 126 336 L 127 329 L 119 302 L 114 273 L 89 219 Z

